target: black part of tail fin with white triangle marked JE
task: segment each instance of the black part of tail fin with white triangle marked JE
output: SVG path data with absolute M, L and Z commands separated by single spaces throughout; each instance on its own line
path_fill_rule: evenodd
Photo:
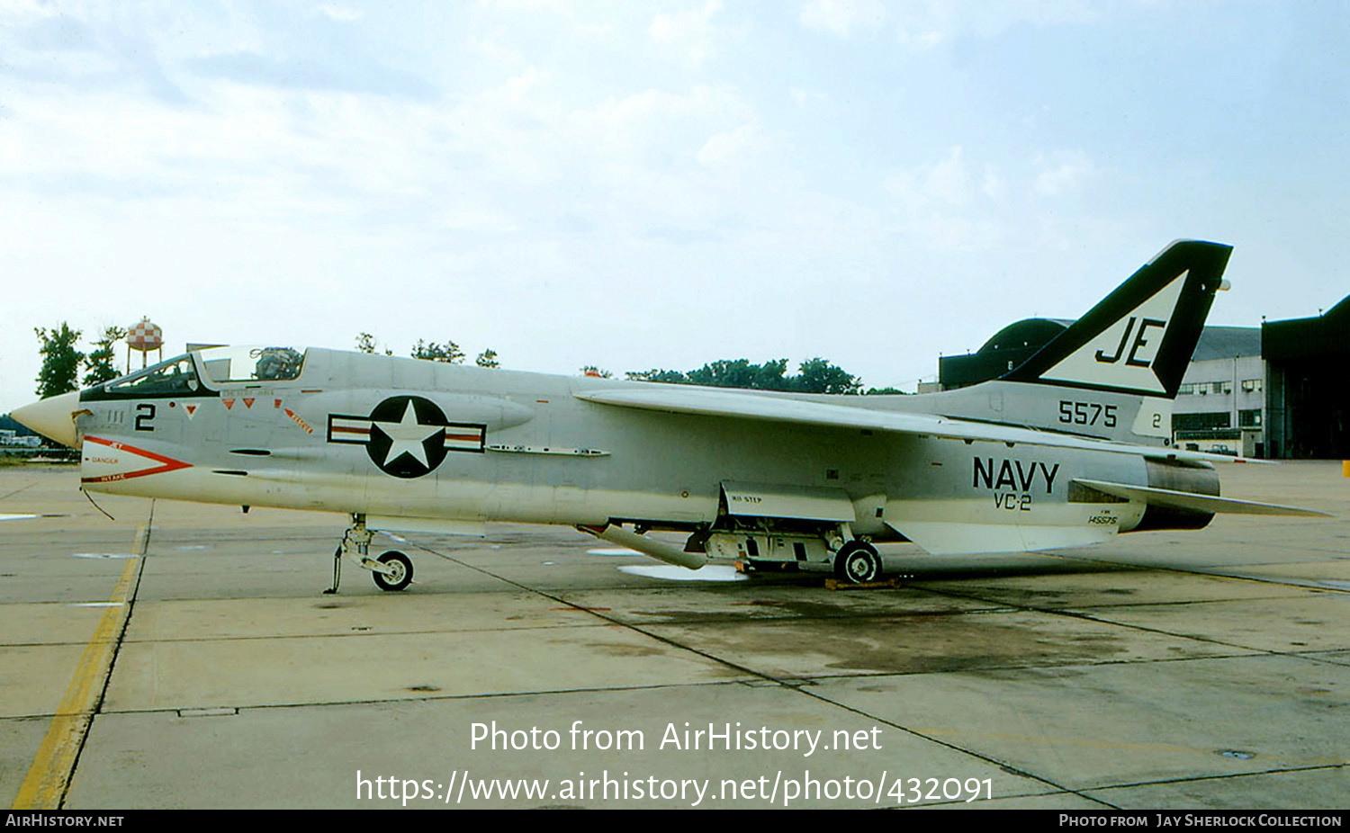
M 1177 240 L 1002 378 L 1173 398 L 1231 246 Z

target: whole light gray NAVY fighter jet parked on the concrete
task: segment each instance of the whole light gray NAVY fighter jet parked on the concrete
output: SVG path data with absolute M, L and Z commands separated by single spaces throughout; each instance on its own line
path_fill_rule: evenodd
M 1165 444 L 1231 248 L 1170 244 L 1022 366 L 926 396 L 809 396 L 485 370 L 333 350 L 201 350 L 14 412 L 82 450 L 88 491 L 340 512 L 335 554 L 412 581 L 375 531 L 567 524 L 698 568 L 883 571 L 933 554 L 1197 529 L 1211 460 Z M 648 537 L 679 532 L 684 545 Z

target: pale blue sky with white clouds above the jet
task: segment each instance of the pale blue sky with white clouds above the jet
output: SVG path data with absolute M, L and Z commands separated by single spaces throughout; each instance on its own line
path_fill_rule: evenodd
M 1177 238 L 1210 323 L 1312 316 L 1347 147 L 1338 1 L 0 0 L 0 412 L 143 316 L 913 390 Z

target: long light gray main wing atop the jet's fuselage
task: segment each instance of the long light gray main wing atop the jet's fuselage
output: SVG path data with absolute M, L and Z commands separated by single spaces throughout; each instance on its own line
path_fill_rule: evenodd
M 1148 459 L 1177 460 L 1191 464 L 1204 464 L 1210 460 L 1266 462 L 1233 458 L 1222 454 L 1183 451 L 1161 446 L 1131 446 L 1111 443 L 1071 433 L 1019 428 L 998 423 L 975 423 L 953 420 L 933 413 L 906 413 L 879 410 L 875 408 L 855 408 L 832 402 L 814 402 L 788 397 L 763 396 L 736 390 L 714 390 L 709 387 L 674 387 L 652 385 L 641 390 L 601 389 L 574 394 L 579 400 L 599 405 L 639 408 L 643 410 L 664 410 L 667 413 L 693 413 L 701 416 L 737 417 L 764 420 L 771 423 L 794 423 L 798 425 L 819 425 L 825 428 L 868 428 L 892 433 L 932 436 L 952 440 L 988 440 L 995 443 L 1026 443 L 1052 448 L 1077 448 L 1083 451 L 1107 451 L 1131 454 Z M 860 404 L 863 397 L 859 397 Z

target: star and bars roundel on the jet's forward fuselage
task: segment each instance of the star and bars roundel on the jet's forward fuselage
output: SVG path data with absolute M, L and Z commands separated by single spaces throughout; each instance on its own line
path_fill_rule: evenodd
M 370 416 L 328 414 L 328 441 L 364 446 L 385 474 L 431 474 L 451 451 L 482 454 L 487 427 L 451 423 L 436 402 L 418 396 L 383 400 Z

